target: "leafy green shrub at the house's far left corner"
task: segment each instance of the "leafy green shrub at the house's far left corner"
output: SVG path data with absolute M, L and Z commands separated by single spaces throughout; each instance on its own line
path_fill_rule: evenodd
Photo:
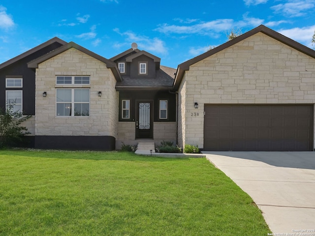
M 3 110 L 0 108 L 0 148 L 16 145 L 26 134 L 31 133 L 21 126 L 31 115 L 23 116 L 22 112 L 13 111 L 13 105 L 7 105 Z

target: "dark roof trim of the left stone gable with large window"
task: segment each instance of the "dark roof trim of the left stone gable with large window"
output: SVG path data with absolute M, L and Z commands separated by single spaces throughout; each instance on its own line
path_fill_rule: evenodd
M 111 61 L 109 59 L 103 58 L 102 56 L 99 56 L 98 54 L 96 54 L 96 53 L 94 53 L 94 52 L 74 43 L 74 42 L 69 42 L 69 43 L 57 48 L 56 50 L 51 51 L 50 53 L 47 53 L 47 54 L 45 54 L 45 55 L 43 55 L 37 59 L 34 59 L 34 60 L 28 62 L 28 67 L 38 68 L 38 64 L 40 64 L 41 62 L 44 62 L 45 60 L 51 59 L 51 58 L 65 52 L 65 51 L 71 49 L 71 48 L 75 48 L 75 49 L 95 58 L 95 59 L 98 59 L 98 60 L 106 63 L 106 67 L 110 68 L 112 70 L 116 80 L 117 81 L 122 80 L 121 74 L 119 73 L 119 70 L 117 68 L 116 63 L 114 63 L 113 61 Z

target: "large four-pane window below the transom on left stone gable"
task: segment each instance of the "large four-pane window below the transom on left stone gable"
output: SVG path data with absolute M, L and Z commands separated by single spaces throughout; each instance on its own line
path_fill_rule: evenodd
M 56 115 L 90 116 L 90 89 L 56 89 Z

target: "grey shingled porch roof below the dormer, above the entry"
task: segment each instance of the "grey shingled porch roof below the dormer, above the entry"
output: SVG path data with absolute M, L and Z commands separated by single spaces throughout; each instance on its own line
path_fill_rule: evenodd
M 117 82 L 116 90 L 130 89 L 165 89 L 173 88 L 176 69 L 161 65 L 157 70 L 156 78 L 130 78 L 123 76 L 122 82 Z

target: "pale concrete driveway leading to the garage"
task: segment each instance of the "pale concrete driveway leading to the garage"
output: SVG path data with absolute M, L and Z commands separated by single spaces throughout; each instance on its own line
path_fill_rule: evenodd
M 252 197 L 274 235 L 315 236 L 315 152 L 202 153 Z

